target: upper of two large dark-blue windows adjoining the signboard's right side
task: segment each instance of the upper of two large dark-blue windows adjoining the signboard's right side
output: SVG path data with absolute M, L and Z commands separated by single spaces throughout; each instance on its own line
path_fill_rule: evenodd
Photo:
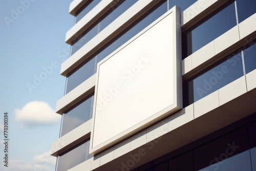
M 234 2 L 222 6 L 204 20 L 182 33 L 183 59 L 237 25 Z

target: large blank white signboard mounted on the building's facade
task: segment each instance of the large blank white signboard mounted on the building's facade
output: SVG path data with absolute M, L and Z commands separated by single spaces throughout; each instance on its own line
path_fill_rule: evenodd
M 91 154 L 181 109 L 176 35 L 167 12 L 98 64 Z

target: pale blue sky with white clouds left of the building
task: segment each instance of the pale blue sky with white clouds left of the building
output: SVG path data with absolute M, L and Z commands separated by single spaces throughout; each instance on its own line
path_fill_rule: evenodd
M 72 0 L 2 1 L 0 6 L 0 170 L 55 170 L 50 156 L 59 137 L 56 102 L 69 57 L 66 32 L 73 26 Z M 8 167 L 4 166 L 4 113 L 8 112 Z M 1 161 L 2 160 L 2 161 Z

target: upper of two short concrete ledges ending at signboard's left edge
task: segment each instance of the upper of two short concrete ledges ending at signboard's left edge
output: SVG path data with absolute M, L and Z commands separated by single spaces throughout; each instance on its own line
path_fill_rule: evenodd
M 56 104 L 56 113 L 62 114 L 73 105 L 75 105 L 77 102 L 93 93 L 95 89 L 95 82 L 96 74 L 88 78 L 86 81 L 82 82 L 71 92 L 59 99 Z

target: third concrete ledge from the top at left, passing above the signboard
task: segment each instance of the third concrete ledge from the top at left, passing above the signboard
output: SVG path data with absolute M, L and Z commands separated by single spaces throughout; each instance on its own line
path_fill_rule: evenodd
M 79 66 L 81 62 L 96 53 L 100 48 L 118 36 L 118 34 L 120 34 L 124 29 L 131 26 L 137 19 L 156 6 L 159 2 L 160 0 L 144 0 L 135 3 L 131 8 L 115 19 L 114 22 L 91 39 L 86 45 L 63 62 L 60 74 L 67 76 L 67 74 Z

